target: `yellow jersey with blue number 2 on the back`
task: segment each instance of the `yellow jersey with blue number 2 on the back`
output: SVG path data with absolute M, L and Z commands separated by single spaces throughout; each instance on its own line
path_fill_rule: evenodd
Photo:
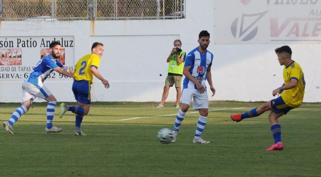
M 86 80 L 92 83 L 93 74 L 90 70 L 91 67 L 98 69 L 100 58 L 96 54 L 88 54 L 83 56 L 75 65 L 74 79 L 77 81 Z

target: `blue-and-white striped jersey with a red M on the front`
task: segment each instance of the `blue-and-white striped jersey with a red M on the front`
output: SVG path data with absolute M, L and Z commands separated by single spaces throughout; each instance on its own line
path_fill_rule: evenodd
M 213 53 L 206 50 L 206 53 L 203 55 L 196 47 L 194 50 L 187 54 L 185 59 L 184 67 L 192 66 L 189 70 L 189 73 L 202 85 L 205 86 L 206 81 L 206 71 L 207 68 L 212 65 L 213 61 Z M 183 89 L 184 88 L 194 88 L 197 89 L 196 85 L 185 77 L 183 82 Z

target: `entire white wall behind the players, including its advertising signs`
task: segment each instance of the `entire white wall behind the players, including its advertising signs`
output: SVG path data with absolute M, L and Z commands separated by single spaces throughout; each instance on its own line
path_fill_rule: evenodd
M 173 41 L 181 39 L 182 49 L 189 52 L 198 46 L 201 30 L 211 34 L 208 50 L 214 54 L 216 95 L 210 100 L 273 99 L 272 90 L 283 83 L 274 49 L 289 45 L 304 72 L 304 101 L 320 102 L 320 7 L 318 0 L 187 0 L 185 19 L 1 21 L 0 102 L 21 101 L 25 73 L 52 40 L 68 42 L 62 48 L 64 66 L 70 69 L 91 52 L 93 42 L 104 44 L 99 71 L 110 88 L 94 78 L 92 101 L 160 101 Z M 72 79 L 52 75 L 44 84 L 57 100 L 74 101 Z M 170 88 L 167 101 L 175 99 Z

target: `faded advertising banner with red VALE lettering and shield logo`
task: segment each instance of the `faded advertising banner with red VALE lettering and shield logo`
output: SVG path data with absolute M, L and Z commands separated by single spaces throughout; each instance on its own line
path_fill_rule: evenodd
M 320 44 L 321 0 L 215 1 L 216 44 Z

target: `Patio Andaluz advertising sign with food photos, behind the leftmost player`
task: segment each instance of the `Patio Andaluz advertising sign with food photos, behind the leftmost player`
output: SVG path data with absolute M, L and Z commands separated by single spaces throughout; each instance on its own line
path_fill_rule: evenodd
M 53 41 L 61 43 L 57 59 L 67 69 L 74 70 L 74 36 L 0 37 L 0 80 L 25 80 L 32 69 L 46 55 Z M 48 78 L 72 79 L 57 72 Z

